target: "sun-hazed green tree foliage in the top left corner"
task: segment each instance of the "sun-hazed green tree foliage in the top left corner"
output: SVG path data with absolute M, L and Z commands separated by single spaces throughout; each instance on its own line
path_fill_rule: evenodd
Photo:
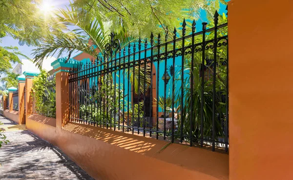
M 20 45 L 38 45 L 65 27 L 51 25 L 54 16 L 40 10 L 42 0 L 1 0 L 0 37 L 12 36 Z

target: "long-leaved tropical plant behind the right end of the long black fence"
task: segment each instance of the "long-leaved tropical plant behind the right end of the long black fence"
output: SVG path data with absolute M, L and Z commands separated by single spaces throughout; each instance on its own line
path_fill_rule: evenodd
M 227 22 L 226 16 L 219 16 L 219 24 L 224 24 Z M 213 27 L 213 23 L 210 25 Z M 218 30 L 218 36 L 228 35 L 228 28 L 224 27 Z M 213 39 L 214 32 L 211 32 L 207 35 L 207 39 Z M 201 40 L 201 39 L 199 39 Z M 224 42 L 225 39 L 222 40 Z M 201 42 L 201 41 L 199 41 Z M 213 56 L 213 49 L 205 50 L 207 57 Z M 213 81 L 212 76 L 205 77 L 204 83 L 204 99 L 201 98 L 202 88 L 201 82 L 202 77 L 200 77 L 200 67 L 201 67 L 201 55 L 200 53 L 195 53 L 194 55 L 194 65 L 193 71 L 191 71 L 191 56 L 187 56 L 184 64 L 184 71 L 192 73 L 193 75 L 193 89 L 190 90 L 190 77 L 191 74 L 185 79 L 184 83 L 184 106 L 180 109 L 181 118 L 178 121 L 178 132 L 181 131 L 181 121 L 183 121 L 183 134 L 187 134 L 188 137 L 192 136 L 193 141 L 198 142 L 200 138 L 210 139 L 212 137 L 212 94 L 213 94 Z M 212 57 L 213 58 L 213 57 Z M 223 129 L 223 124 L 226 121 L 226 100 L 223 98 L 223 95 L 227 93 L 227 46 L 221 46 L 217 48 L 217 68 L 216 68 L 216 98 L 215 98 L 215 138 L 219 140 L 225 138 L 225 133 Z M 212 64 L 205 62 L 206 68 L 213 72 Z M 180 67 L 181 68 L 181 67 Z M 181 74 L 181 71 L 178 73 Z M 180 79 L 181 80 L 181 79 Z M 192 99 L 191 99 L 192 93 Z M 176 97 L 179 99 L 181 97 L 181 89 L 176 92 Z M 191 102 L 192 101 L 192 102 Z M 204 101 L 203 109 L 203 137 L 201 137 L 200 126 L 201 126 L 201 102 Z M 192 104 L 192 107 L 191 107 Z M 192 121 L 192 127 L 190 127 L 190 120 Z M 192 135 L 190 135 L 190 128 L 192 128 Z M 178 137 L 177 137 L 178 138 Z M 189 141 L 189 139 L 186 139 Z

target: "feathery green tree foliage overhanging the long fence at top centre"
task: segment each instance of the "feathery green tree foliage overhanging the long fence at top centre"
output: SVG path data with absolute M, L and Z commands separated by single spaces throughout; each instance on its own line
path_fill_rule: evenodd
M 73 6 L 84 19 L 107 19 L 110 29 L 128 36 L 149 37 L 150 33 L 164 34 L 167 27 L 180 27 L 183 18 L 199 19 L 206 11 L 212 19 L 220 2 L 225 0 L 74 0 Z M 191 24 L 189 24 L 191 25 Z

